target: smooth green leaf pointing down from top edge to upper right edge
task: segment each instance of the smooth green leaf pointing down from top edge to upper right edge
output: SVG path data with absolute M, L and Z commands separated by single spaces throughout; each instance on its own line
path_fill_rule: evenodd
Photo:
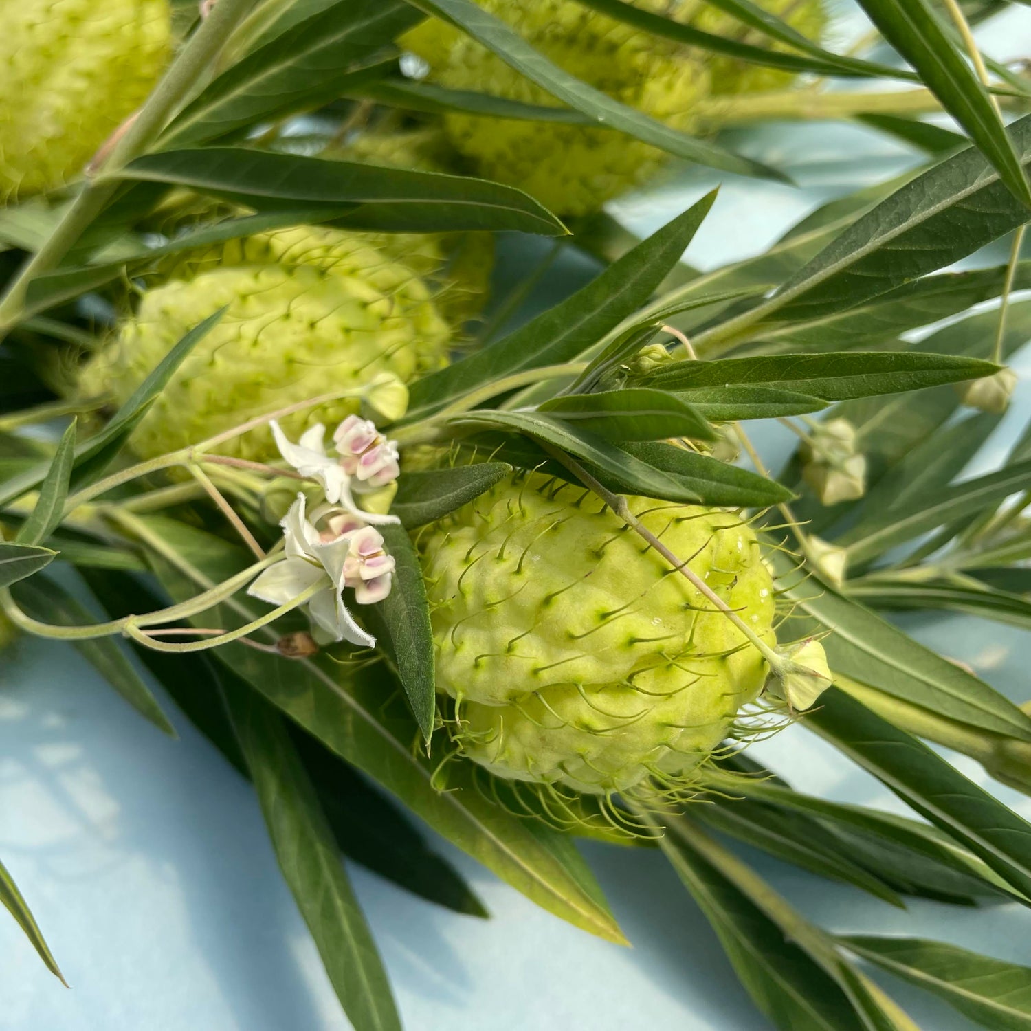
M 970 134 L 1013 197 L 1031 207 L 1031 186 L 1006 135 L 1002 115 L 932 7 L 925 0 L 859 2 L 885 39 L 912 65 L 941 106 Z

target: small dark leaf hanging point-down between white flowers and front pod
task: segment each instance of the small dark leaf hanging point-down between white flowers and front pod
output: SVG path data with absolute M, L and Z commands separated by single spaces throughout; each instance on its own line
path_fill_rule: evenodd
M 423 569 L 406 530 L 385 526 L 380 533 L 387 554 L 397 565 L 391 593 L 367 609 L 369 624 L 380 635 L 380 646 L 394 663 L 419 729 L 429 741 L 436 713 L 436 688 L 433 630 Z

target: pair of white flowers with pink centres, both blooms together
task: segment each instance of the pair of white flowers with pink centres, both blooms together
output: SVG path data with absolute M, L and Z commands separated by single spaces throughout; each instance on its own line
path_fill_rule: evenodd
M 325 581 L 307 602 L 317 636 L 371 647 L 375 638 L 355 622 L 343 602 L 343 591 L 354 590 L 360 605 L 383 601 L 390 594 L 395 563 L 375 526 L 399 521 L 359 507 L 355 496 L 397 479 L 397 445 L 357 415 L 348 415 L 336 428 L 335 456 L 327 453 L 326 428 L 321 423 L 297 443 L 288 439 L 274 420 L 270 426 L 279 454 L 302 476 L 322 487 L 325 503 L 308 513 L 308 499 L 303 493 L 297 495 L 279 524 L 286 557 L 262 572 L 247 593 L 270 604 L 286 605 Z

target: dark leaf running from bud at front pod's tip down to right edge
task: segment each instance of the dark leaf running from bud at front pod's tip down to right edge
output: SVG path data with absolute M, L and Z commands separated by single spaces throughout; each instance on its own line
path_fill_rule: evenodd
M 836 688 L 824 692 L 804 726 L 965 844 L 1018 892 L 1031 893 L 1031 825 L 927 745 Z

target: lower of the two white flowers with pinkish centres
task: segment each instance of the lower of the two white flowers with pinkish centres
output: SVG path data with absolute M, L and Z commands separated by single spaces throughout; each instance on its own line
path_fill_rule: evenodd
M 288 459 L 289 461 L 289 459 Z M 358 541 L 359 548 L 368 547 L 368 537 L 363 530 L 371 527 L 353 527 L 350 533 L 330 531 L 322 534 L 307 520 L 304 513 L 305 499 L 303 494 L 297 495 L 297 500 L 290 506 L 282 522 L 282 533 L 286 538 L 287 557 L 275 565 L 269 566 L 247 588 L 247 594 L 261 598 L 272 605 L 286 605 L 298 595 L 325 580 L 326 587 L 318 591 L 308 601 L 308 614 L 312 623 L 324 630 L 335 641 L 347 640 L 353 644 L 372 647 L 376 639 L 366 633 L 354 620 L 347 606 L 343 603 L 343 589 L 347 585 L 348 571 L 356 575 L 361 584 L 366 583 L 362 575 L 362 560 L 359 558 L 356 566 L 352 556 L 352 541 Z M 372 531 L 375 533 L 375 531 Z M 379 537 L 379 534 L 375 534 Z M 379 537 L 379 544 L 383 538 Z M 386 556 L 389 558 L 389 556 Z M 348 560 L 351 560 L 348 565 Z M 391 570 L 387 571 L 386 592 L 383 585 L 373 591 L 376 597 L 371 600 L 381 600 L 390 593 Z M 375 566 L 371 570 L 374 579 L 381 574 L 381 569 Z M 356 592 L 357 597 L 357 592 Z M 362 601 L 362 598 L 358 598 Z

